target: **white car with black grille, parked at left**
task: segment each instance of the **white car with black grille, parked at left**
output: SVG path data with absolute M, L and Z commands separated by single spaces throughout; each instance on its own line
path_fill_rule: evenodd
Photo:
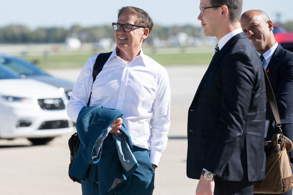
M 45 144 L 73 132 L 67 101 L 63 88 L 21 79 L 0 66 L 0 138 L 26 137 L 33 144 Z

